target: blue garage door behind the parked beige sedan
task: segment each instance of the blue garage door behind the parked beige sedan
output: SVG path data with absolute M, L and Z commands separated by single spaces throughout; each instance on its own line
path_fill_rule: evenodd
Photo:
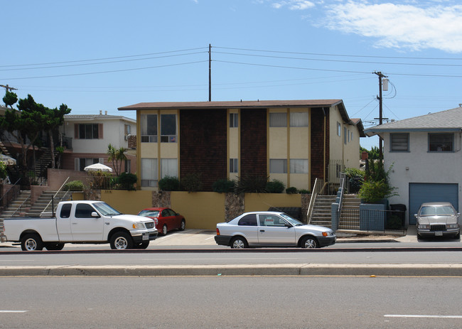
M 458 184 L 409 183 L 409 224 L 416 223 L 422 203 L 446 202 L 458 211 Z

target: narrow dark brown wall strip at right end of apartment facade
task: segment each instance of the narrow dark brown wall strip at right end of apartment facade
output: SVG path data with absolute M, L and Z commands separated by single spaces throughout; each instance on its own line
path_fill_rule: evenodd
M 324 167 L 324 112 L 311 109 L 311 187 L 316 178 L 327 180 L 329 165 L 329 112 L 326 109 L 326 167 Z M 326 177 L 324 175 L 326 174 Z

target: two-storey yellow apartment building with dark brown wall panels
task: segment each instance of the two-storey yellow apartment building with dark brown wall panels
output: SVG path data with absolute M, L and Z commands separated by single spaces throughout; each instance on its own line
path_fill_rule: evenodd
M 360 119 L 341 99 L 240 102 L 149 102 L 136 111 L 136 156 L 142 189 L 165 176 L 199 173 L 203 190 L 215 181 L 268 176 L 311 190 L 316 178 L 334 180 L 359 168 Z

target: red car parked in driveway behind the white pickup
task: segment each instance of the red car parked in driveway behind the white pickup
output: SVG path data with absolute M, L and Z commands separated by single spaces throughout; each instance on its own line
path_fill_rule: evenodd
M 149 217 L 156 222 L 156 229 L 159 234 L 167 234 L 171 230 L 183 231 L 186 227 L 185 217 L 174 212 L 170 208 L 152 207 L 141 210 L 139 216 Z

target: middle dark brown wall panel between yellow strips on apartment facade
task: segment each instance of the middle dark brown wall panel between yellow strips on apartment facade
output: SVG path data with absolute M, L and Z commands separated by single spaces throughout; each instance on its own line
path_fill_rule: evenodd
M 267 176 L 267 110 L 241 109 L 240 124 L 240 176 Z

